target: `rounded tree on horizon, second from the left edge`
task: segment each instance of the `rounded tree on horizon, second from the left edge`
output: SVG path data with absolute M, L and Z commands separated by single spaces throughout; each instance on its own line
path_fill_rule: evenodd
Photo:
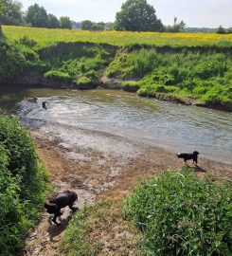
M 32 27 L 47 27 L 48 19 L 45 8 L 40 7 L 38 4 L 28 7 L 26 21 Z

